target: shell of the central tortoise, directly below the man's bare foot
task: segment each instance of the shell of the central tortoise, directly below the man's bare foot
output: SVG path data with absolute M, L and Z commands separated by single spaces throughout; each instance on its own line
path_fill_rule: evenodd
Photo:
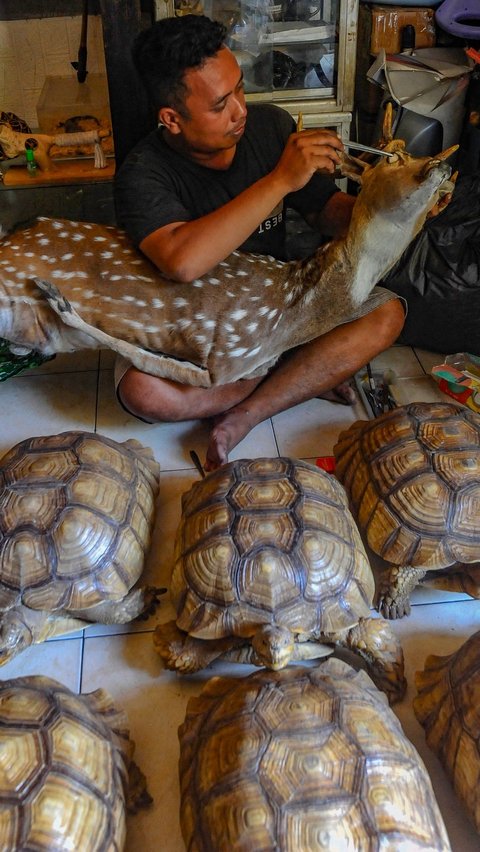
M 344 489 L 314 465 L 241 459 L 183 496 L 171 595 L 186 633 L 340 630 L 369 616 L 373 593 Z

